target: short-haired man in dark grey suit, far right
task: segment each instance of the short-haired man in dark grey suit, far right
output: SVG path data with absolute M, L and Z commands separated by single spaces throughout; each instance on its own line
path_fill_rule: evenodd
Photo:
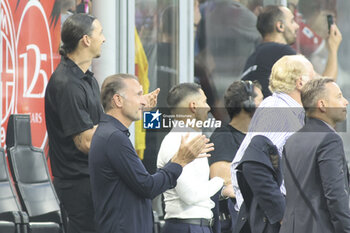
M 307 120 L 285 145 L 287 195 L 280 232 L 350 232 L 349 172 L 334 130 L 346 119 L 348 101 L 331 79 L 308 82 L 301 100 Z

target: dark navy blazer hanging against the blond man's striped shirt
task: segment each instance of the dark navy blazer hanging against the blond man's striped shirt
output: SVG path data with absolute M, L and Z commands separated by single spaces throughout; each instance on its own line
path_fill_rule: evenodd
M 244 203 L 235 233 L 277 233 L 285 208 L 280 191 L 282 173 L 276 146 L 265 136 L 252 138 L 237 166 Z

